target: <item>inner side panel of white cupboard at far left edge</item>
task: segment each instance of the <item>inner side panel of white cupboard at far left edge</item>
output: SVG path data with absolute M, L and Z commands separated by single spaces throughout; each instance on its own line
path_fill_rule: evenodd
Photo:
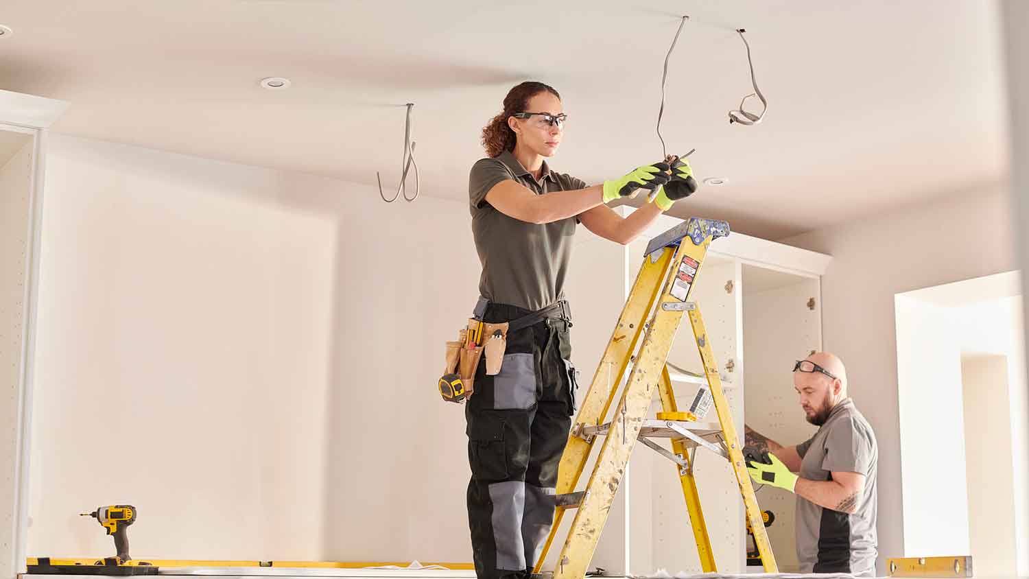
M 5 134 L 13 135 L 13 134 Z M 24 136 L 25 144 L 14 148 L 16 136 L 4 139 L 13 154 L 0 157 L 0 460 L 11 468 L 0 476 L 0 570 L 15 569 L 11 562 L 14 543 L 14 512 L 17 505 L 16 471 L 13 468 L 21 440 L 19 433 L 19 384 L 22 379 L 22 353 L 25 337 L 26 251 L 29 247 L 30 201 L 32 196 L 32 137 Z

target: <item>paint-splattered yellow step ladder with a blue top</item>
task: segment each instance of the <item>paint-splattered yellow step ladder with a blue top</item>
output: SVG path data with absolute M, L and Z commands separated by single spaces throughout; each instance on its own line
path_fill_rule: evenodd
M 565 512 L 575 509 L 571 529 L 557 559 L 554 579 L 581 579 L 586 576 L 637 439 L 675 464 L 705 573 L 713 573 L 717 569 L 694 477 L 693 453 L 698 446 L 722 456 L 732 464 L 765 572 L 778 572 L 761 521 L 760 508 L 744 465 L 742 444 L 721 390 L 718 365 L 711 352 L 704 320 L 700 309 L 688 301 L 708 247 L 713 240 L 728 234 L 729 223 L 694 217 L 654 238 L 647 246 L 643 265 L 607 342 L 561 457 L 554 526 L 536 563 L 535 573 L 540 572 L 546 559 Z M 717 429 L 695 422 L 694 412 L 680 412 L 676 407 L 667 358 L 683 314 L 689 318 L 710 392 L 710 398 L 707 395 L 698 396 L 694 407 L 713 402 L 718 415 Z M 641 337 L 642 345 L 636 353 Z M 630 363 L 633 367 L 629 381 L 614 413 L 608 418 L 608 410 Z M 646 414 L 654 389 L 661 395 L 664 411 L 651 419 Z M 604 438 L 593 474 L 586 488 L 576 493 L 579 476 L 600 436 Z M 671 451 L 652 440 L 654 438 L 671 438 Z

